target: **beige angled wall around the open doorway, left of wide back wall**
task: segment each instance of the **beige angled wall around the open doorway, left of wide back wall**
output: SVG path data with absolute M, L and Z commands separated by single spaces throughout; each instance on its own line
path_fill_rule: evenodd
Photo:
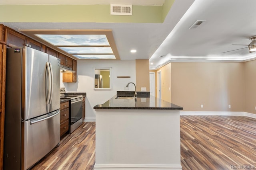
M 156 72 L 161 71 L 161 99 L 167 102 L 172 102 L 171 98 L 171 63 L 166 64 L 162 68 L 156 70 Z M 157 74 L 156 74 L 157 82 Z M 157 96 L 157 93 L 156 93 Z M 159 96 L 157 96 L 159 97 Z

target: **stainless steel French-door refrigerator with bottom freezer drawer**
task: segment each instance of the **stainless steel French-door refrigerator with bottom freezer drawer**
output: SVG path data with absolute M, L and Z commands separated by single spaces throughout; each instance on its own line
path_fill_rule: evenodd
M 26 170 L 60 142 L 60 60 L 7 49 L 4 169 Z

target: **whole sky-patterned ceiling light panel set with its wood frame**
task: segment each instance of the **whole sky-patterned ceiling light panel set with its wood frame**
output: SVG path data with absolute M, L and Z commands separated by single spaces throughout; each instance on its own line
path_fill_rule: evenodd
M 112 30 L 21 30 L 74 59 L 120 60 Z

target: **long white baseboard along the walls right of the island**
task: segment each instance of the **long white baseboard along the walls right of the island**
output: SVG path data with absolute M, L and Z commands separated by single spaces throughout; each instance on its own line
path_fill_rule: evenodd
M 247 116 L 256 118 L 256 114 L 240 111 L 180 111 L 180 115 L 225 115 L 225 116 Z

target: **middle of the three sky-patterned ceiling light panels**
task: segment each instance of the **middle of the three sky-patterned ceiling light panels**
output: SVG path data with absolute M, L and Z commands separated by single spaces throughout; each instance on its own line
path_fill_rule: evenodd
M 71 54 L 84 54 L 84 53 L 113 54 L 111 47 L 59 47 L 59 48 Z

